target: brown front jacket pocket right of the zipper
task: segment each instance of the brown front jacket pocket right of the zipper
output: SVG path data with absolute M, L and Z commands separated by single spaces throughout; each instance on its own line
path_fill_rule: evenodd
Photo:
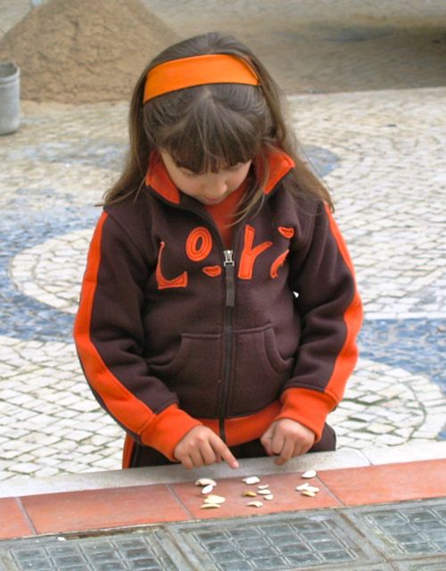
M 229 417 L 257 412 L 277 400 L 293 368 L 293 357 L 285 359 L 278 351 L 271 325 L 236 331 L 234 353 Z

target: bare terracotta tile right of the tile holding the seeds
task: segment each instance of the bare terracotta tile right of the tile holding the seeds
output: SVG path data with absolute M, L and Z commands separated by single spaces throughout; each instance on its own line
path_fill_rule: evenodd
M 318 476 L 347 506 L 446 496 L 446 459 L 326 470 Z

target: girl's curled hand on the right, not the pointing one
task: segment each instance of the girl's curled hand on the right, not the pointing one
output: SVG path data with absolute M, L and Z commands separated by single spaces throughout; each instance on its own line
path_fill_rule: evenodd
M 276 420 L 260 438 L 268 456 L 278 457 L 274 460 L 278 466 L 308 452 L 315 440 L 316 434 L 310 428 L 291 418 Z

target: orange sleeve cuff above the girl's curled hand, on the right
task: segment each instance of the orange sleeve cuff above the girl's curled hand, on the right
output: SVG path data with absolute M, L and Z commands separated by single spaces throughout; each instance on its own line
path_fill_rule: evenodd
M 320 440 L 326 424 L 326 416 L 334 410 L 336 405 L 326 393 L 302 388 L 286 389 L 280 401 L 282 410 L 275 420 L 291 418 L 300 422 L 316 434 L 315 442 Z

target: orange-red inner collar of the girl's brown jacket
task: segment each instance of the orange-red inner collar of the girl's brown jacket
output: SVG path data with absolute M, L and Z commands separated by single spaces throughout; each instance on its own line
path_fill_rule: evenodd
M 277 183 L 294 167 L 293 159 L 284 151 L 277 148 L 273 152 L 268 153 L 268 161 L 269 176 L 265 186 L 265 194 L 269 194 L 275 186 L 277 186 Z M 255 164 L 256 172 L 261 176 L 259 167 L 260 165 Z M 180 193 L 177 186 L 175 186 L 169 177 L 160 153 L 153 152 L 150 155 L 145 184 L 153 188 L 157 194 L 160 194 L 161 197 L 169 203 L 181 203 L 182 193 Z

